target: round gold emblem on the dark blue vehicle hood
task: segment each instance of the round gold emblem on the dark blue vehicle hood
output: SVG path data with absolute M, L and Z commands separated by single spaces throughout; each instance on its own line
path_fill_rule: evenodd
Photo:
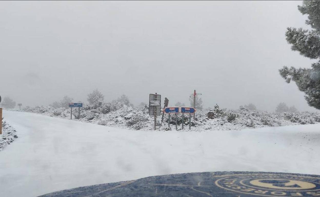
M 231 174 L 215 181 L 226 190 L 256 196 L 320 196 L 315 177 L 283 174 Z

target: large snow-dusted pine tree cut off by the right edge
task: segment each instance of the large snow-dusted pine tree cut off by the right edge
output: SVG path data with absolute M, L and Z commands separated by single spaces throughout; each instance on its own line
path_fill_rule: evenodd
M 293 80 L 299 90 L 306 94 L 308 104 L 320 110 L 320 1 L 303 1 L 298 10 L 302 14 L 308 14 L 306 24 L 313 29 L 288 27 L 286 40 L 292 45 L 292 50 L 299 51 L 304 57 L 317 59 L 318 62 L 311 64 L 311 68 L 284 66 L 279 73 L 287 83 Z

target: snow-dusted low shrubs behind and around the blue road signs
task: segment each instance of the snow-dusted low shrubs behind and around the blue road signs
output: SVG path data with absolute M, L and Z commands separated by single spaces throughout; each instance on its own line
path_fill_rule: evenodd
M 40 113 L 52 117 L 70 118 L 69 108 L 53 108 L 51 106 L 25 107 L 26 112 Z M 73 118 L 78 120 L 78 109 L 73 109 Z M 177 118 L 178 129 L 182 121 L 186 128 L 189 123 L 187 115 L 171 116 L 170 126 L 175 127 Z M 132 130 L 152 130 L 154 117 L 148 114 L 148 105 L 132 107 L 123 102 L 100 102 L 97 105 L 84 105 L 80 110 L 80 121 L 99 125 L 128 128 Z M 270 113 L 259 110 L 241 108 L 239 110 L 214 109 L 197 111 L 196 119 L 191 119 L 192 130 L 240 130 L 245 128 L 260 128 L 270 126 L 304 125 L 320 122 L 320 114 L 314 112 Z M 164 114 L 161 125 L 161 116 L 157 117 L 157 129 L 168 130 L 168 115 Z M 188 130 L 186 130 L 188 131 Z

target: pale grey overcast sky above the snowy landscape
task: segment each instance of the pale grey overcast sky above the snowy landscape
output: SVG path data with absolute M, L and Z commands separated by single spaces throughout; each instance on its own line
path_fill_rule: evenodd
M 48 105 L 148 94 L 169 105 L 196 89 L 205 107 L 279 102 L 308 107 L 278 69 L 310 67 L 291 51 L 286 27 L 304 27 L 302 1 L 0 1 L 0 95 Z

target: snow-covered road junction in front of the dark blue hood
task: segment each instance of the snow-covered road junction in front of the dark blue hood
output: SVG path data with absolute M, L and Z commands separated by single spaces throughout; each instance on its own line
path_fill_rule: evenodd
M 128 131 L 4 111 L 19 138 L 0 151 L 0 196 L 204 171 L 320 174 L 320 125 L 242 131 Z

